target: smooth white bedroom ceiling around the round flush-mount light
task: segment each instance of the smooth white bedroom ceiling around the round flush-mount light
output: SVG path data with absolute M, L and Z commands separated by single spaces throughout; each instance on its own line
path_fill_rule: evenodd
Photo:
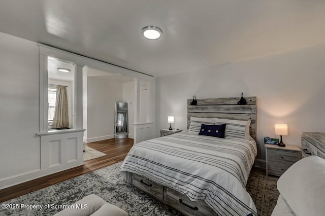
M 323 0 L 0 0 L 0 31 L 154 77 L 325 43 Z M 140 30 L 156 25 L 158 40 Z

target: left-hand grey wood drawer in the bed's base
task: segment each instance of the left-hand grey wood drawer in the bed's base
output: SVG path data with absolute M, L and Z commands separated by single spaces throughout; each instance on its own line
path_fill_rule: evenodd
M 132 174 L 132 185 L 152 195 L 156 199 L 163 201 L 164 193 L 162 185 L 158 185 L 157 183 L 151 182 L 150 180 L 135 173 Z

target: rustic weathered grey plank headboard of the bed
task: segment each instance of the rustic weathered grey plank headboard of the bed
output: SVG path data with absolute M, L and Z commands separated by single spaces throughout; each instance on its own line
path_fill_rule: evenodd
M 190 117 L 250 120 L 250 135 L 256 139 L 256 97 L 245 97 L 246 105 L 237 105 L 240 97 L 197 99 L 197 105 L 187 100 L 187 129 Z

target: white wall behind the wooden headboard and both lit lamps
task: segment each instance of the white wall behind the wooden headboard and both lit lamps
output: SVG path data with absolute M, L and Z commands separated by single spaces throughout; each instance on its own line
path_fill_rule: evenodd
M 325 132 L 325 45 L 156 79 L 158 129 L 186 129 L 187 99 L 257 97 L 257 142 L 265 159 L 263 137 L 275 123 L 288 124 L 284 143 L 301 146 L 301 132 Z

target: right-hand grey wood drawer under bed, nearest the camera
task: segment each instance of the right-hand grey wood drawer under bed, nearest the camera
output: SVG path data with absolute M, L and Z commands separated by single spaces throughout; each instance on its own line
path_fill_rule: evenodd
M 176 208 L 185 215 L 217 215 L 205 201 L 190 201 L 177 191 L 164 187 L 165 203 Z

